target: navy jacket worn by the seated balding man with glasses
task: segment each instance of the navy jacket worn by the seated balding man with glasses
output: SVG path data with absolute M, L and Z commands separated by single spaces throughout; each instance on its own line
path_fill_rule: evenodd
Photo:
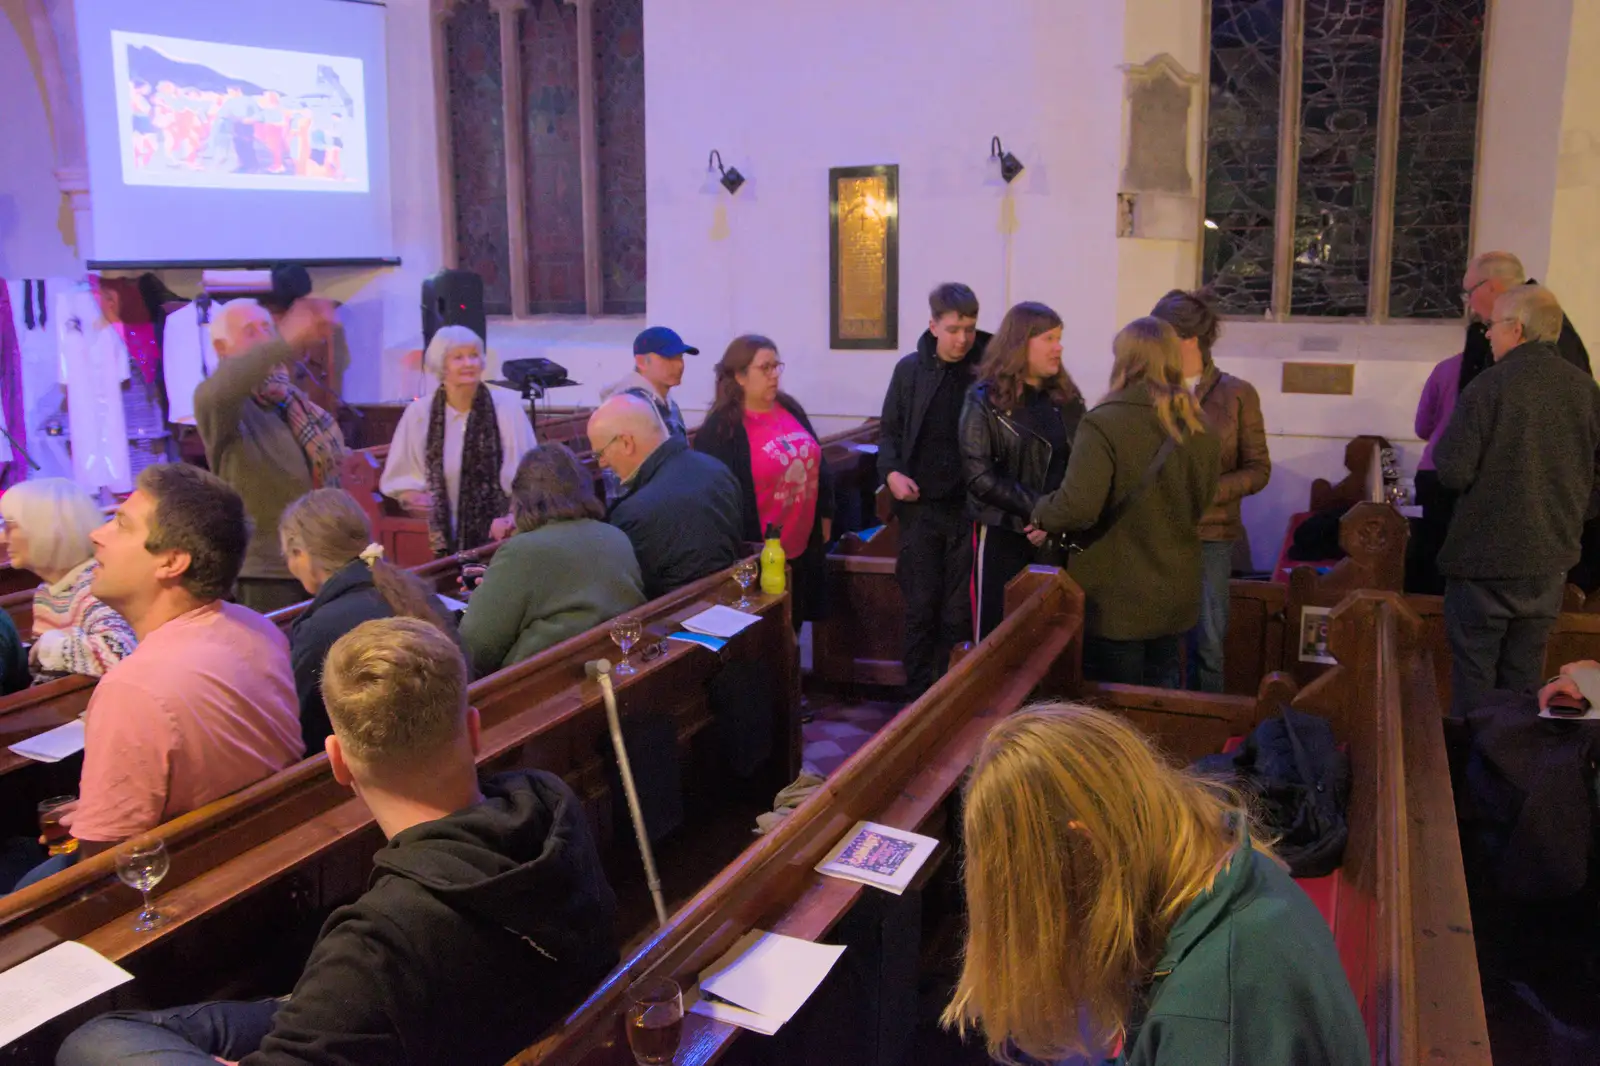
M 678 437 L 650 453 L 606 522 L 634 543 L 651 600 L 744 555 L 739 483 L 726 466 Z

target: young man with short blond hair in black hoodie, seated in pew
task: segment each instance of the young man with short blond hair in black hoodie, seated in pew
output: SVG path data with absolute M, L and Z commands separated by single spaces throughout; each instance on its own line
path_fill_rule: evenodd
M 480 779 L 466 663 L 435 626 L 363 623 L 328 653 L 328 762 L 389 845 L 293 996 L 112 1013 L 59 1066 L 501 1066 L 616 964 L 616 898 L 582 808 L 538 770 Z

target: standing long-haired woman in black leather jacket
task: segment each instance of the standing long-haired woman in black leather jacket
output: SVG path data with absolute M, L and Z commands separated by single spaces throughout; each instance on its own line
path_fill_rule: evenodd
M 1061 315 L 1037 303 L 1006 312 L 962 407 L 962 466 L 973 515 L 973 629 L 1005 613 L 1005 586 L 1048 555 L 1034 504 L 1061 485 L 1083 395 L 1061 367 Z

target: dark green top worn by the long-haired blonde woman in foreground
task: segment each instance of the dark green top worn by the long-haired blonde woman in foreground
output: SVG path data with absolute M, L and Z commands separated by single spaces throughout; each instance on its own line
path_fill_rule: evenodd
M 1370 1066 L 1339 951 L 1299 885 L 1248 842 L 1166 936 L 1125 1066 Z

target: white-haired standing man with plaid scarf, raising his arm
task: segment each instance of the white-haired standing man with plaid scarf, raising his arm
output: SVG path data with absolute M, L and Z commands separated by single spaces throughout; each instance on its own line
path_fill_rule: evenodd
M 211 343 L 221 360 L 195 387 L 195 426 L 211 472 L 245 499 L 253 536 L 235 599 L 256 611 L 306 599 L 278 549 L 278 519 L 310 490 L 339 487 L 339 426 L 293 386 L 285 370 L 294 352 L 333 335 L 333 304 L 326 299 L 296 299 L 277 330 L 254 299 L 232 299 L 211 319 Z

